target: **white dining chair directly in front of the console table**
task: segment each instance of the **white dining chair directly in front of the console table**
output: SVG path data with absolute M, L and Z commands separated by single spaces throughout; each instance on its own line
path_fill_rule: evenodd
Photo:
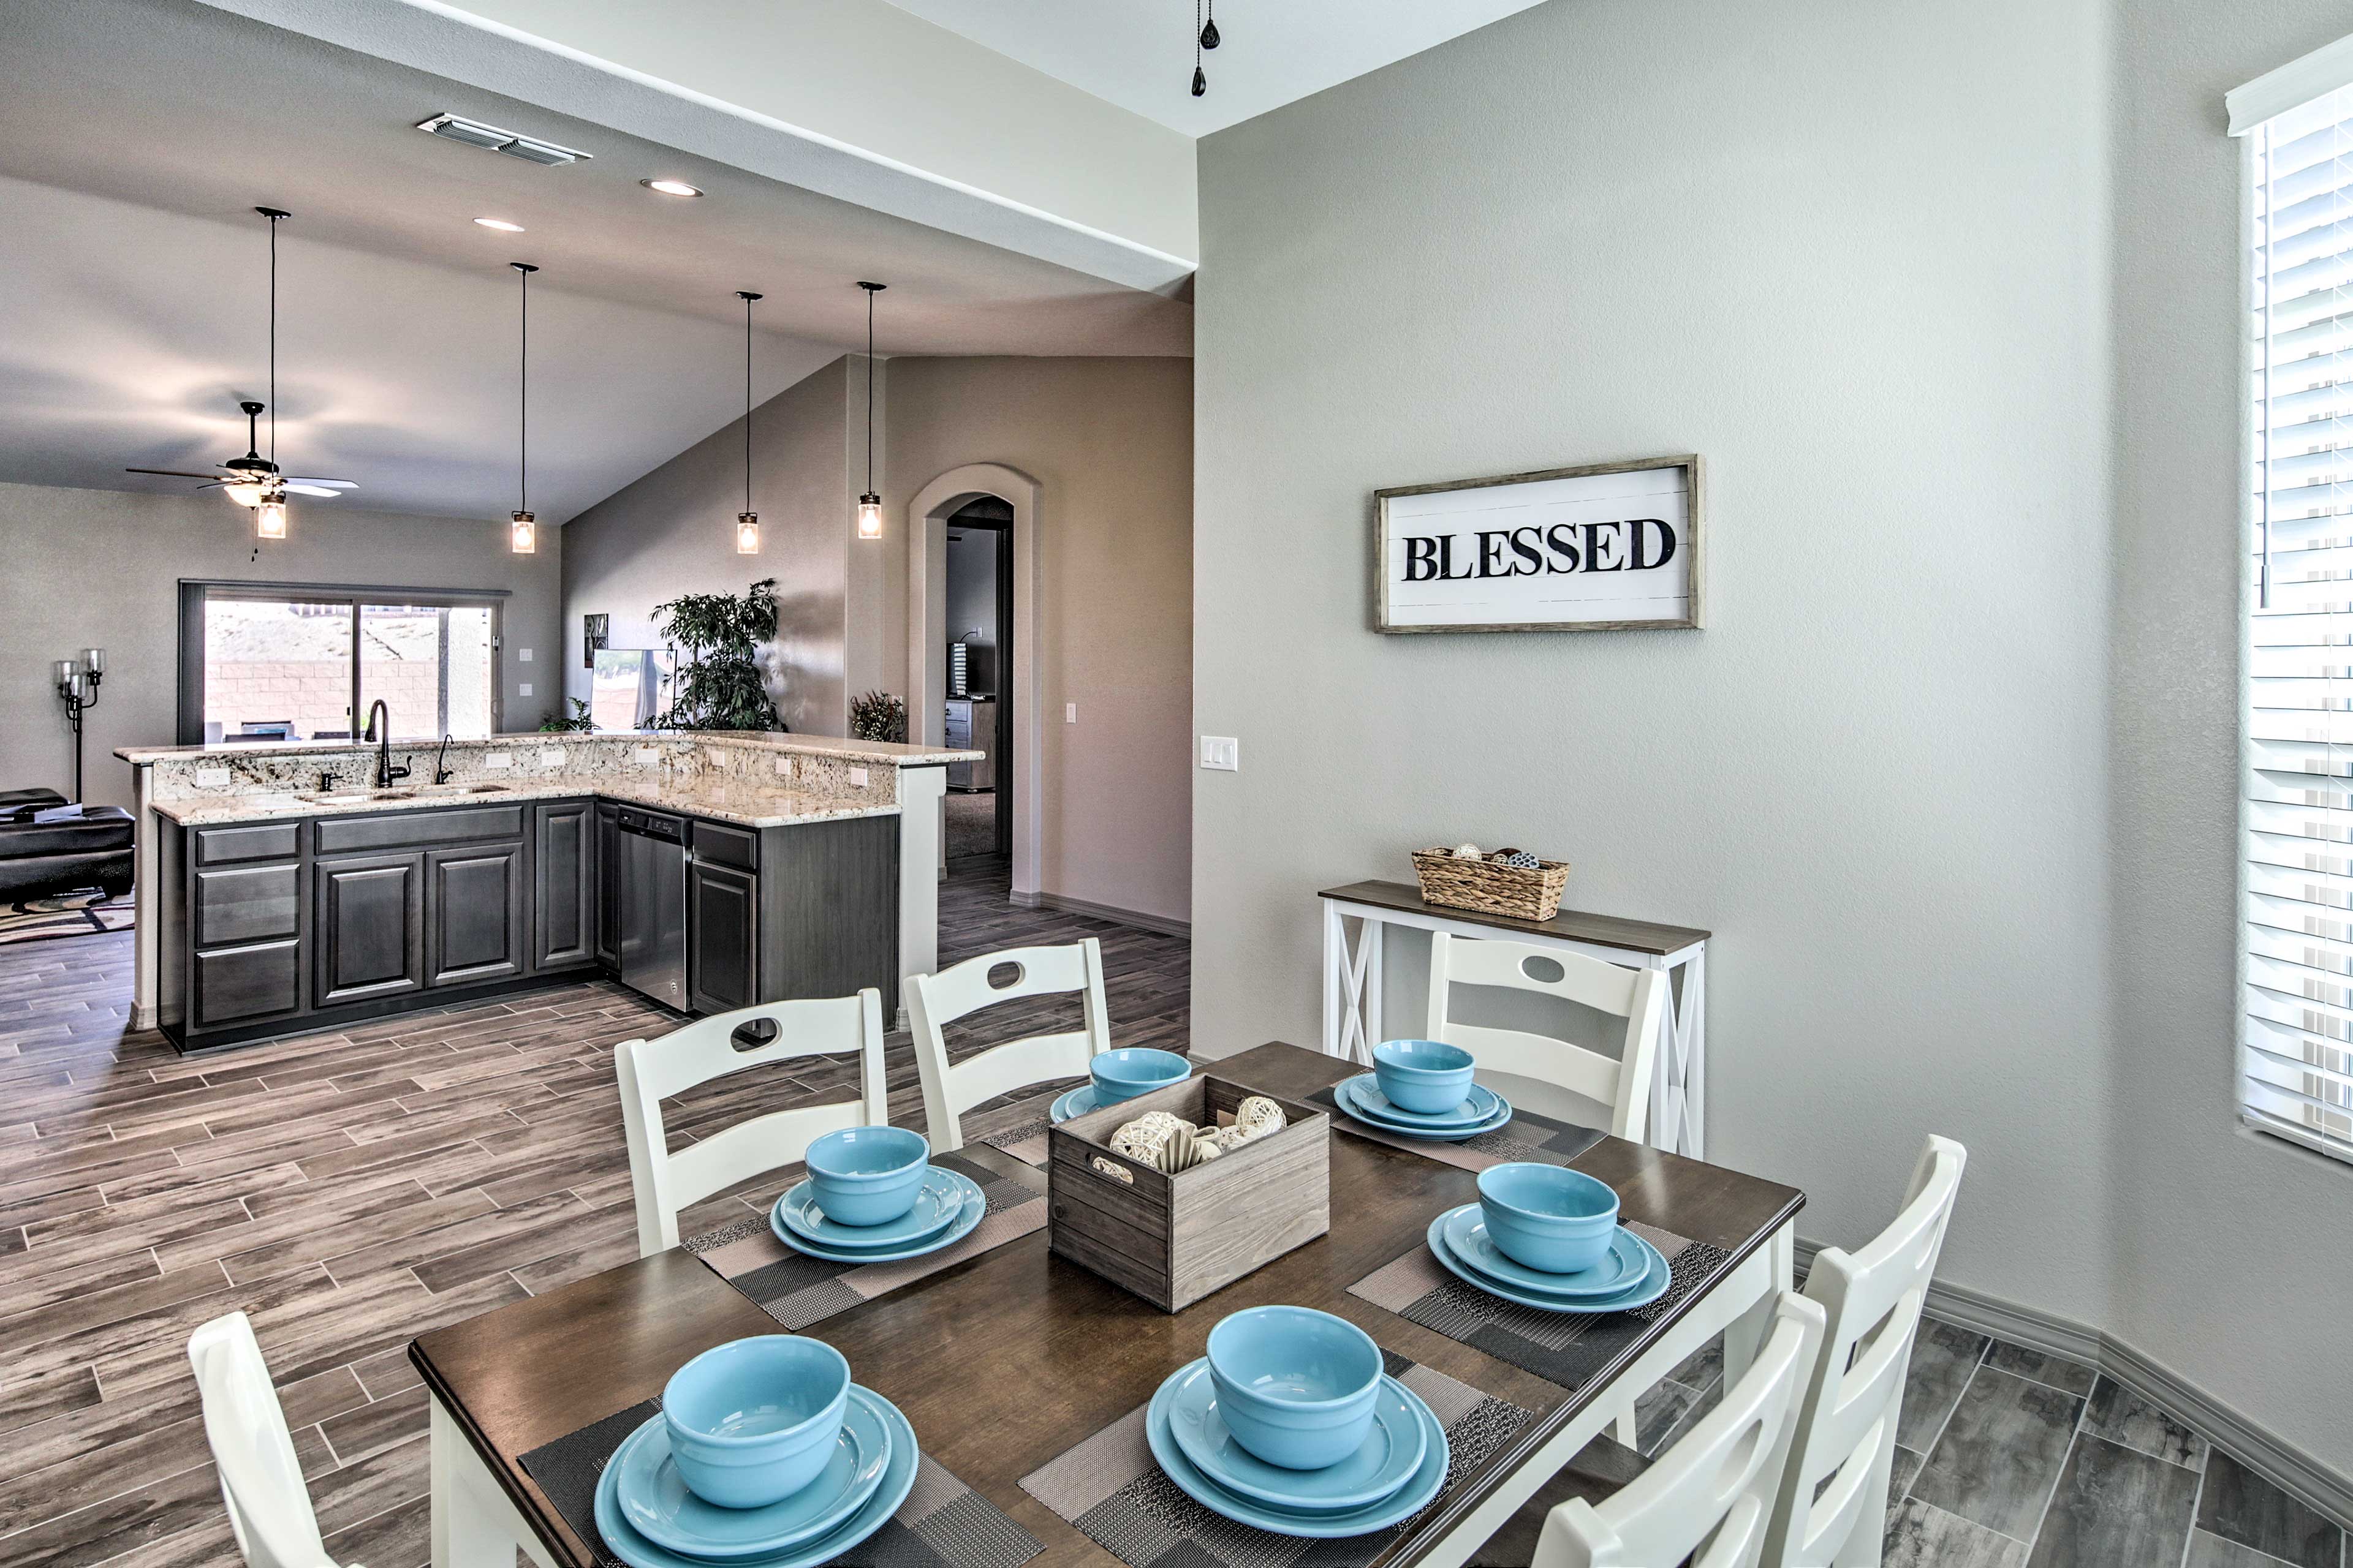
M 1558 976 L 1555 976 L 1558 971 Z M 1449 992 L 1457 985 L 1492 985 L 1577 1001 L 1626 1020 L 1619 1056 L 1551 1034 L 1457 1023 Z M 1442 1039 L 1478 1058 L 1482 1077 L 1506 1077 L 1504 1098 L 1546 1117 L 1586 1119 L 1588 1100 L 1609 1107 L 1609 1131 L 1647 1143 L 1649 1079 L 1659 1058 L 1659 1023 L 1666 1016 L 1666 971 L 1626 969 L 1577 952 L 1553 952 L 1527 943 L 1485 943 L 1431 933 L 1431 1016 L 1426 1039 Z M 1562 1093 L 1567 1091 L 1567 1093 Z M 1572 1098 L 1574 1095 L 1574 1098 Z

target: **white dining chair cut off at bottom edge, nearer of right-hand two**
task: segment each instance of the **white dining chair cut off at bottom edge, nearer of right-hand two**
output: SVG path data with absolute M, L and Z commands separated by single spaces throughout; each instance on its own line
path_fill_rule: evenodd
M 1821 1305 L 1784 1291 L 1725 1401 L 1609 1497 L 1555 1507 L 1529 1568 L 1755 1568 L 1821 1333 Z

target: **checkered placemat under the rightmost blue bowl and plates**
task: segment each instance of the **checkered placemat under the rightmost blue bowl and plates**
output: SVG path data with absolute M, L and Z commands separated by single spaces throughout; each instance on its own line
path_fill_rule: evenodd
M 1426 1241 L 1348 1286 L 1348 1295 L 1360 1295 L 1471 1349 L 1485 1349 L 1497 1361 L 1511 1361 L 1546 1382 L 1581 1389 L 1649 1324 L 1713 1286 L 1732 1265 L 1732 1255 L 1720 1246 L 1654 1225 L 1628 1222 L 1626 1229 L 1657 1246 L 1671 1269 L 1666 1295 L 1633 1312 L 1539 1312 L 1508 1302 L 1457 1279 L 1431 1255 Z

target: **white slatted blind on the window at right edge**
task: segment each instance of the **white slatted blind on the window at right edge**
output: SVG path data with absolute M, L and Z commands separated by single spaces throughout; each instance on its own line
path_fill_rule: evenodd
M 2245 136 L 2240 1107 L 2264 1131 L 2353 1161 L 2353 87 Z

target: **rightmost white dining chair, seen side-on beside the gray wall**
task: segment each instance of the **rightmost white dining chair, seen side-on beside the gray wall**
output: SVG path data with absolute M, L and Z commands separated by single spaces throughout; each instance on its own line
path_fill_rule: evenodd
M 1814 1253 L 1805 1295 L 1828 1326 L 1767 1530 L 1774 1568 L 1880 1561 L 1904 1373 L 1967 1164 L 1965 1147 L 1932 1133 L 1894 1222 L 1859 1253 Z

